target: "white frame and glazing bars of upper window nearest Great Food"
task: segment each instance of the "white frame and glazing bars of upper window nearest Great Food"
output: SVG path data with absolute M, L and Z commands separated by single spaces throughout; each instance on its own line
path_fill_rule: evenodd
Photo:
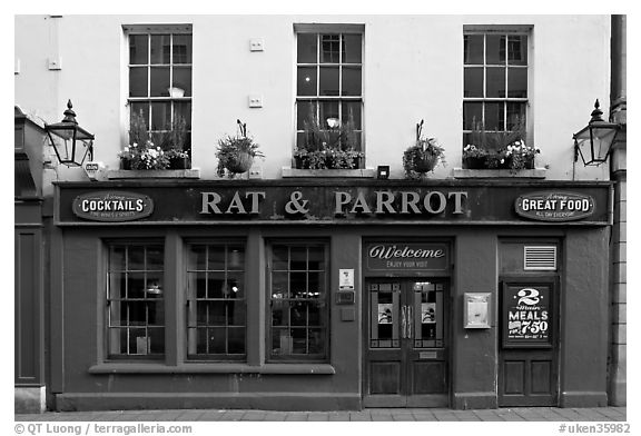
M 485 130 L 487 132 L 506 132 L 509 130 L 509 110 L 510 103 L 522 103 L 523 115 L 525 118 L 525 129 L 526 129 L 526 142 L 532 143 L 533 132 L 532 132 L 532 26 L 464 26 L 463 27 L 463 102 L 462 102 L 462 147 L 465 147 L 466 136 L 469 136 L 473 129 L 467 128 L 465 125 L 465 103 L 467 102 L 479 102 L 482 105 L 482 126 L 485 129 L 485 106 L 487 102 L 502 102 L 503 103 L 503 130 Z M 467 36 L 483 36 L 483 62 L 482 63 L 465 63 L 465 37 Z M 503 63 L 487 63 L 487 36 L 501 36 L 505 37 L 505 59 Z M 527 37 L 527 42 L 525 44 L 526 50 L 526 62 L 524 65 L 513 65 L 510 63 L 509 56 L 509 38 L 515 36 Z M 504 97 L 487 97 L 487 68 L 500 68 L 505 69 L 504 72 Z M 465 70 L 471 68 L 482 68 L 483 69 L 483 97 L 465 97 Z M 510 69 L 525 69 L 526 70 L 526 97 L 509 97 L 509 71 Z

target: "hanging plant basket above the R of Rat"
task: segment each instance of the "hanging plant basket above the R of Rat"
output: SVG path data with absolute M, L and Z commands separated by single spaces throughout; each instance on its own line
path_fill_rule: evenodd
M 219 177 L 224 177 L 225 171 L 230 178 L 237 174 L 247 172 L 256 156 L 264 157 L 263 152 L 258 150 L 258 143 L 247 136 L 247 125 L 241 123 L 240 120 L 236 122 L 240 133 L 235 137 L 227 135 L 218 140 L 218 150 L 216 151 L 218 169 L 216 172 Z

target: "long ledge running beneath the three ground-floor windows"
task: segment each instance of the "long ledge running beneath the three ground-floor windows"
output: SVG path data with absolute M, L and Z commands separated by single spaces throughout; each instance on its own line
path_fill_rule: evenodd
M 267 364 L 252 366 L 233 363 L 185 363 L 167 366 L 158 363 L 106 363 L 93 365 L 89 374 L 336 374 L 329 364 Z

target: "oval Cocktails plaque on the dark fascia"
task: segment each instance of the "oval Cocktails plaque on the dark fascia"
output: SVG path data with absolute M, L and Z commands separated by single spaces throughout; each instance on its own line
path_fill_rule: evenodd
M 99 191 L 73 199 L 73 214 L 95 221 L 132 221 L 148 217 L 154 211 L 154 201 L 135 192 Z

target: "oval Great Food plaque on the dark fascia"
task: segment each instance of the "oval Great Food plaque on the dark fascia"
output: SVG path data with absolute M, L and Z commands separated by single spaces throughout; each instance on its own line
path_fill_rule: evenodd
M 594 199 L 574 192 L 545 191 L 516 198 L 516 214 L 540 221 L 573 221 L 594 212 Z

